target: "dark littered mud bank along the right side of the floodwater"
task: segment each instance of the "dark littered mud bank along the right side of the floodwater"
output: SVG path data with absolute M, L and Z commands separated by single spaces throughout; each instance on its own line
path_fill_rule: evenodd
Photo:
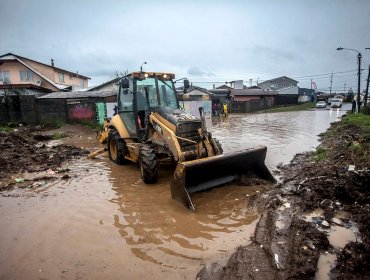
M 328 254 L 336 262 L 325 277 L 370 279 L 369 140 L 369 128 L 332 124 L 316 152 L 281 167 L 282 182 L 253 201 L 262 214 L 252 243 L 206 266 L 197 279 L 313 279 Z M 322 214 L 309 219 L 314 210 Z M 337 218 L 342 212 L 348 217 Z M 328 239 L 338 224 L 358 226 L 359 236 L 344 248 Z

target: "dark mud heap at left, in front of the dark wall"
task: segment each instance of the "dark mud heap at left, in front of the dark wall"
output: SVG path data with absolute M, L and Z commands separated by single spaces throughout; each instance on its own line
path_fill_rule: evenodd
M 88 152 L 71 145 L 50 145 L 52 136 L 34 129 L 0 132 L 0 190 L 12 187 L 10 178 L 18 173 L 53 170 L 65 161 Z

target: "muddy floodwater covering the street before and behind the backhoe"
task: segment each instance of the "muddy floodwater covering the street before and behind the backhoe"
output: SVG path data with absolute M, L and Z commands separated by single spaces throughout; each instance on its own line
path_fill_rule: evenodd
M 214 119 L 213 134 L 225 153 L 266 145 L 274 169 L 315 147 L 343 113 L 230 115 Z M 92 147 L 94 139 L 73 141 Z M 65 167 L 69 180 L 2 193 L 0 279 L 194 279 L 203 264 L 248 244 L 259 217 L 246 207 L 257 186 L 197 194 L 193 213 L 171 199 L 173 169 L 145 185 L 137 167 L 105 157 Z

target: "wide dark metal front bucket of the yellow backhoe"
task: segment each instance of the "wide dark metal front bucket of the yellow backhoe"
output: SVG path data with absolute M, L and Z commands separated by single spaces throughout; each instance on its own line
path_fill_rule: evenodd
M 172 198 L 195 211 L 190 194 L 234 181 L 242 175 L 274 182 L 265 165 L 267 148 L 260 146 L 233 154 L 218 155 L 177 164 Z

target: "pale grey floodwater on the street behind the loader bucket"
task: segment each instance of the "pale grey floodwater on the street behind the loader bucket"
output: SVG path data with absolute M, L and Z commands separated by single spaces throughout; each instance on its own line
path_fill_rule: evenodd
M 227 120 L 213 119 L 213 135 L 225 153 L 267 146 L 266 165 L 274 169 L 279 163 L 289 163 L 295 154 L 315 148 L 318 135 L 348 109 L 344 104 L 342 109 L 231 114 Z

